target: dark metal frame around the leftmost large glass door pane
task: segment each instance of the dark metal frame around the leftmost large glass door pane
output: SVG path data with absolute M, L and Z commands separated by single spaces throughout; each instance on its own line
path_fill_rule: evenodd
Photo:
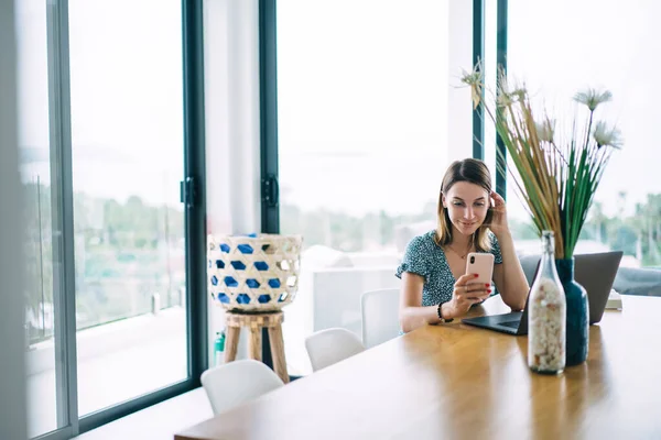
M 193 194 L 185 205 L 186 340 L 188 377 L 97 413 L 78 416 L 76 286 L 68 0 L 47 1 L 48 118 L 53 204 L 57 429 L 36 437 L 69 439 L 201 386 L 208 367 L 203 0 L 182 0 L 184 175 Z M 68 295 L 67 295 L 68 293 Z

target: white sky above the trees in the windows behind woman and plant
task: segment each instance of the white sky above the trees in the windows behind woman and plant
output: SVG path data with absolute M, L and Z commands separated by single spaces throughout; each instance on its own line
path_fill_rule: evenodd
M 279 2 L 285 201 L 358 215 L 379 208 L 416 212 L 436 199 L 447 165 L 444 152 L 454 147 L 447 144 L 446 122 L 455 109 L 448 108 L 446 91 L 460 86 L 459 73 L 447 72 L 448 46 L 465 34 L 449 34 L 446 2 L 402 4 Z M 496 62 L 495 4 L 487 2 L 487 66 Z M 628 196 L 626 213 L 647 194 L 661 191 L 653 132 L 660 92 L 650 75 L 658 63 L 650 54 L 661 44 L 653 22 L 660 8 L 653 1 L 509 2 L 509 73 L 525 81 L 559 124 L 571 127 L 576 91 L 613 92 L 613 102 L 596 114 L 617 123 L 625 139 L 597 193 L 611 216 L 619 212 L 620 191 Z M 489 150 L 492 130 L 486 142 Z M 486 160 L 494 172 L 491 151 Z M 513 190 L 508 198 L 511 215 L 525 218 Z

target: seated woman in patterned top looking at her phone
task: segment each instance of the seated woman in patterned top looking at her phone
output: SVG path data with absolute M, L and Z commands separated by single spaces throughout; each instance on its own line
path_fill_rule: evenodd
M 441 185 L 438 227 L 407 246 L 397 276 L 402 279 L 400 323 L 404 332 L 459 318 L 497 292 L 466 274 L 470 252 L 494 254 L 494 283 L 502 300 L 522 310 L 528 282 L 507 224 L 505 200 L 491 191 L 484 162 L 454 162 Z

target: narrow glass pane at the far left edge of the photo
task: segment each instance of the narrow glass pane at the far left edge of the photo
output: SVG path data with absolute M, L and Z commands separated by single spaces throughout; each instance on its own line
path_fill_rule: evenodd
M 48 57 L 46 4 L 15 2 L 18 103 L 21 179 L 23 183 L 25 287 L 25 361 L 28 433 L 41 436 L 58 422 L 55 362 L 55 302 L 52 152 L 48 139 Z M 56 209 L 56 208 L 55 208 Z M 61 361 L 59 361 L 61 362 Z M 61 419 L 62 421 L 62 419 Z

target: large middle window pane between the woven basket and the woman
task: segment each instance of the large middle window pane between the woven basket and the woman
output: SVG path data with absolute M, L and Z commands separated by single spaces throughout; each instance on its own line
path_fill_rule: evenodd
M 469 98 L 449 108 L 459 85 L 449 9 L 434 0 L 278 1 L 280 224 L 305 240 L 284 326 L 290 373 L 306 371 L 310 332 L 360 333 L 360 294 L 397 285 L 408 241 L 435 227 L 448 161 L 470 154 L 448 145 L 449 121 L 470 118 Z M 463 29 L 469 63 L 472 31 Z M 328 272 L 340 266 L 346 273 Z

